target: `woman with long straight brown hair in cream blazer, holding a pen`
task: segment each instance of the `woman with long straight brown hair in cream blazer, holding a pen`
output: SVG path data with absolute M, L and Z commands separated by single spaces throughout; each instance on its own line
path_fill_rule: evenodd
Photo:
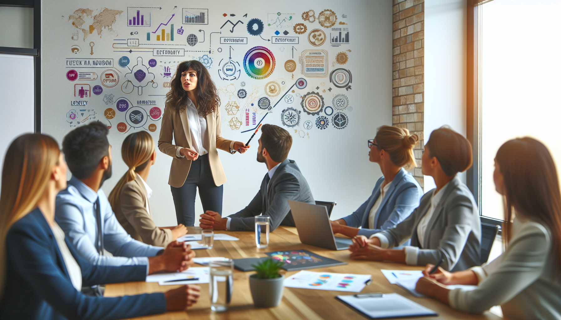
M 483 267 L 439 268 L 417 282 L 419 293 L 450 307 L 481 313 L 500 305 L 510 319 L 561 319 L 561 195 L 547 147 L 532 138 L 507 141 L 495 157 L 495 189 L 506 198 L 503 242 L 507 250 Z M 512 211 L 516 217 L 512 221 Z M 449 290 L 445 285 L 477 285 Z

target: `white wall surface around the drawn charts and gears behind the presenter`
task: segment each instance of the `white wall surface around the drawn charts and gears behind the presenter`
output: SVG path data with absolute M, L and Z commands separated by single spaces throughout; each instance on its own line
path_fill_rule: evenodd
M 161 12 L 163 12 L 163 17 L 177 4 L 167 0 L 159 2 L 135 1 L 129 3 L 128 5 L 135 7 L 162 7 L 163 9 Z M 330 8 L 338 16 L 337 22 L 345 21 L 348 23 L 345 27 L 350 28 L 350 45 L 343 45 L 337 48 L 330 47 L 329 43 L 325 43 L 323 46 L 319 47 L 319 49 L 326 49 L 329 51 L 329 71 L 332 71 L 332 68 L 334 68 L 332 62 L 334 61 L 335 54 L 347 49 L 351 50 L 347 52 L 349 55 L 349 62 L 344 66 L 337 66 L 337 64 L 335 64 L 335 66 L 348 68 L 352 72 L 352 89 L 348 91 L 344 89 L 334 89 L 333 91 L 322 93 L 322 95 L 325 96 L 326 106 L 332 105 L 330 101 L 333 99 L 332 96 L 334 92 L 346 94 L 348 96 L 350 104 L 353 107 L 352 112 L 347 112 L 349 125 L 341 130 L 333 128 L 331 124 L 329 128 L 325 130 L 319 130 L 314 126 L 306 132 L 304 138 L 301 138 L 298 133 L 295 133 L 294 129 L 289 129 L 294 140 L 289 159 L 295 160 L 298 166 L 300 166 L 300 169 L 310 184 L 316 200 L 336 201 L 338 203 L 334 208 L 332 217 L 342 217 L 356 210 L 370 195 L 376 180 L 381 176 L 378 165 L 368 161 L 367 154 L 369 150 L 366 146 L 366 140 L 375 136 L 377 127 L 383 124 L 391 124 L 392 120 L 392 1 L 364 0 L 344 3 L 339 1 L 323 1 L 321 5 L 318 2 L 311 1 L 283 1 L 272 3 L 266 9 L 261 9 L 262 2 L 258 1 L 246 1 L 243 3 L 243 6 L 239 3 L 226 1 L 195 1 L 190 4 L 184 4 L 183 6 L 209 8 L 209 16 L 212 17 L 211 22 L 214 22 L 211 25 L 202 27 L 183 25 L 183 29 L 186 30 L 185 34 L 183 34 L 182 38 L 177 36 L 177 39 L 181 39 L 183 44 L 185 44 L 187 34 L 194 33 L 200 35 L 197 30 L 201 28 L 206 30 L 205 41 L 209 41 L 210 32 L 220 31 L 219 27 L 223 22 L 219 21 L 226 21 L 228 18 L 231 18 L 230 16 L 227 18 L 223 17 L 222 13 L 228 13 L 228 15 L 234 13 L 236 16 L 233 18 L 247 22 L 247 20 L 252 17 L 259 17 L 261 20 L 265 20 L 267 17 L 266 13 L 268 12 L 296 12 L 297 22 L 304 22 L 301 19 L 301 13 L 303 11 L 314 9 L 316 15 L 318 15 L 320 11 Z M 108 30 L 104 29 L 101 37 L 94 31 L 93 34 L 89 35 L 86 41 L 83 41 L 82 38 L 77 41 L 71 40 L 70 35 L 77 29 L 68 22 L 68 15 L 71 15 L 78 8 L 99 10 L 99 8 L 103 7 L 125 11 L 123 15 L 117 16 L 117 22 L 113 24 L 112 33 L 108 33 Z M 181 6 L 178 7 L 181 8 Z M 136 29 L 126 26 L 126 10 L 127 3 L 125 1 L 113 2 L 107 0 L 89 3 L 88 6 L 86 6 L 86 4 L 76 4 L 76 2 L 72 1 L 58 1 L 56 3 L 50 3 L 49 6 L 43 6 L 43 30 L 57 30 L 57 33 L 61 36 L 52 37 L 48 33 L 42 35 L 43 61 L 52 62 L 42 64 L 42 81 L 43 84 L 49 83 L 50 87 L 57 88 L 57 90 L 49 90 L 49 86 L 42 86 L 42 128 L 44 133 L 53 135 L 59 142 L 62 141 L 66 133 L 72 129 L 68 126 L 66 121 L 66 113 L 71 109 L 71 106 L 68 105 L 69 101 L 75 100 L 72 91 L 74 82 L 68 81 L 65 77 L 66 71 L 68 70 L 65 68 L 65 58 L 73 56 L 80 58 L 113 58 L 115 62 L 117 62 L 117 58 L 121 57 L 121 55 L 127 55 L 131 58 L 131 67 L 134 66 L 136 57 L 143 57 L 144 63 L 146 63 L 148 59 L 153 58 L 151 52 L 133 52 L 132 54 L 128 54 L 128 52 L 113 52 L 113 39 L 140 38 L 141 43 L 146 39 L 146 30 L 140 30 L 140 28 L 137 28 L 139 29 L 137 30 L 139 31 L 138 35 L 131 36 L 129 34 L 129 31 L 135 31 Z M 249 13 L 247 17 L 243 17 L 245 13 Z M 163 17 L 159 16 L 160 14 L 159 10 L 154 11 L 151 16 L 152 21 L 158 21 L 159 23 L 159 20 L 163 20 Z M 343 18 L 342 15 L 347 15 L 347 18 Z M 179 26 L 181 26 L 181 22 L 176 22 L 176 29 Z M 307 27 L 307 32 L 311 30 L 310 28 L 321 28 L 317 20 L 315 25 L 307 24 Z M 233 84 L 236 86 L 237 90 L 240 89 L 240 81 L 245 81 L 247 82 L 245 89 L 248 90 L 249 93 L 250 90 L 255 90 L 255 88 L 257 88 L 257 90 L 263 90 L 262 88 L 266 82 L 275 80 L 276 78 L 284 77 L 287 83 L 289 81 L 294 81 L 291 80 L 290 73 L 284 71 L 284 62 L 292 57 L 290 46 L 285 45 L 285 49 L 280 50 L 280 45 L 269 45 L 267 41 L 249 35 L 245 29 L 245 25 L 237 26 L 234 33 L 230 33 L 229 30 L 224 28 L 220 36 L 249 37 L 251 45 L 256 43 L 255 45 L 270 46 L 277 59 L 277 67 L 273 75 L 266 80 L 253 80 L 243 74 L 243 69 L 242 77 L 239 80 L 231 82 L 220 80 L 217 77 L 217 64 L 220 59 L 224 57 L 228 58 L 228 49 L 224 49 L 225 51 L 223 50 L 222 53 L 219 53 L 217 50 L 217 47 L 219 47 L 219 45 L 217 45 L 218 36 L 213 35 L 213 53 L 210 54 L 210 56 L 214 59 L 214 66 L 209 70 L 217 86 L 219 88 L 224 88 L 228 84 Z M 266 31 L 263 34 L 263 38 L 270 39 L 272 30 L 267 30 L 266 25 L 265 29 Z M 329 35 L 328 29 L 323 30 L 327 31 Z M 294 35 L 293 32 L 291 32 L 291 35 Z M 314 47 L 308 43 L 306 35 L 307 34 L 300 35 L 300 44 L 295 45 L 297 51 L 295 50 L 294 60 L 297 62 L 299 52 L 305 49 L 314 49 Z M 80 31 L 80 37 L 81 36 L 82 34 Z M 95 41 L 94 55 L 90 55 L 90 41 Z M 329 41 L 329 39 L 327 41 Z M 82 49 L 82 52 L 76 55 L 70 52 L 71 45 L 75 44 L 79 44 Z M 208 50 L 209 47 L 206 43 L 197 44 L 193 48 L 196 50 L 196 48 L 199 47 L 203 48 L 204 45 L 206 45 L 206 50 Z M 221 45 L 220 47 L 228 48 L 228 45 Z M 234 51 L 232 51 L 232 59 L 243 61 L 243 55 L 247 49 L 252 46 L 249 48 L 232 47 L 234 48 Z M 195 54 L 196 56 L 194 58 L 203 53 Z M 169 60 L 174 61 L 183 61 L 186 59 L 190 59 L 187 57 L 187 54 L 185 57 L 181 58 L 169 58 Z M 163 60 L 163 58 L 158 58 L 158 61 Z M 298 68 L 300 68 L 299 63 Z M 126 68 L 115 67 L 114 69 L 123 72 L 120 74 L 121 78 L 124 78 L 125 72 L 128 72 Z M 102 71 L 103 69 L 100 70 Z M 169 80 L 164 80 L 162 76 L 160 76 L 159 69 L 158 72 L 154 73 L 157 73 L 157 78 L 155 80 L 159 84 L 157 89 L 153 89 L 149 86 L 145 88 L 142 96 L 133 94 L 126 95 L 121 91 L 121 84 L 123 82 L 121 80 L 117 87 L 113 89 L 103 87 L 104 91 L 100 96 L 92 96 L 88 101 L 88 109 L 95 108 L 96 112 L 98 112 L 96 115 L 96 117 L 98 117 L 97 119 L 107 121 L 103 118 L 103 110 L 110 105 L 106 105 L 101 100 L 105 94 L 114 94 L 115 98 L 126 96 L 131 101 L 136 101 L 136 99 L 140 98 L 148 99 L 148 94 L 165 94 L 167 89 L 163 88 L 163 82 Z M 301 76 L 297 69 L 297 71 L 294 72 L 294 79 Z M 302 91 L 301 94 L 305 94 L 308 91 L 317 91 L 315 89 L 316 87 L 320 87 L 319 90 L 321 91 L 322 89 L 327 89 L 330 85 L 328 77 L 309 77 L 307 81 L 308 85 L 305 90 L 300 90 Z M 321 84 L 322 82 L 324 82 L 324 85 Z M 97 80 L 96 83 L 92 82 L 92 84 L 99 84 L 99 80 Z M 295 98 L 297 98 L 296 94 L 300 91 L 296 90 L 296 93 L 293 93 Z M 163 110 L 163 97 L 157 97 L 155 99 L 160 99 L 158 106 Z M 240 131 L 242 130 L 232 131 L 232 129 L 228 127 L 227 120 L 232 117 L 227 116 L 224 110 L 224 105 L 228 102 L 228 98 L 221 93 L 221 99 L 223 99 L 221 106 L 223 136 L 232 140 L 247 141 L 251 133 L 241 133 Z M 237 96 L 233 98 L 233 100 L 235 99 L 237 99 Z M 274 103 L 275 100 L 272 100 Z M 114 108 L 114 105 L 111 106 Z M 302 109 L 297 102 L 292 105 L 279 103 L 279 105 L 273 109 L 273 113 L 265 118 L 264 123 L 282 125 L 280 124 L 280 112 L 288 106 L 293 106 L 300 110 Z M 298 130 L 302 130 L 302 122 L 304 120 L 315 121 L 317 118 L 317 116 L 306 115 L 304 112 L 302 112 L 301 115 L 302 121 L 300 127 L 297 127 Z M 324 114 L 321 113 L 321 115 Z M 328 118 L 331 122 L 331 117 Z M 158 130 L 152 133 L 155 140 L 158 140 L 159 136 L 159 123 L 160 122 L 157 123 Z M 114 126 L 116 126 L 115 123 L 113 123 L 113 128 L 110 129 L 111 133 L 109 134 L 109 141 L 113 145 L 113 178 L 109 179 L 103 186 L 107 194 L 126 171 L 125 164 L 119 155 L 121 142 L 125 135 L 117 132 Z M 259 135 L 257 135 L 257 137 L 259 137 Z M 252 148 L 244 155 L 229 155 L 227 152 L 219 151 L 228 178 L 228 182 L 224 184 L 223 215 L 233 214 L 241 210 L 241 208 L 246 206 L 255 196 L 259 188 L 261 179 L 263 179 L 266 173 L 266 168 L 265 165 L 255 161 L 256 145 L 256 140 L 253 140 Z M 167 184 L 171 160 L 171 157 L 158 151 L 157 164 L 151 169 L 148 179 L 148 184 L 154 189 L 154 194 L 150 199 L 153 217 L 155 222 L 160 226 L 176 224 L 173 200 L 169 185 Z M 202 213 L 198 197 L 196 210 L 197 214 Z

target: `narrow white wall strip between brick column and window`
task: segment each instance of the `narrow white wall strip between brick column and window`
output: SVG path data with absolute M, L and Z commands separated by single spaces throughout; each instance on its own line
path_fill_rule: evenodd
M 445 124 L 466 136 L 466 8 L 466 0 L 425 2 L 425 143 Z M 434 187 L 425 175 L 425 192 Z

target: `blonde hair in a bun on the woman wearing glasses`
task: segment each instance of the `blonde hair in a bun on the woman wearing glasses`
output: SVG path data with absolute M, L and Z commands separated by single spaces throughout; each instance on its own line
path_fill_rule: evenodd
M 417 166 L 413 147 L 419 141 L 419 136 L 410 135 L 409 130 L 392 126 L 381 126 L 376 133 L 378 150 L 388 152 L 389 159 L 397 166 L 407 170 Z

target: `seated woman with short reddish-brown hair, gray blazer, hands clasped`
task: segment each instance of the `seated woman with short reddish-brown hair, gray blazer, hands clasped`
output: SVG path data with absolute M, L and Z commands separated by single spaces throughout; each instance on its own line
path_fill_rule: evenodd
M 472 164 L 471 144 L 452 129 L 433 131 L 422 155 L 422 173 L 434 178 L 419 207 L 396 227 L 353 239 L 351 258 L 426 265 L 442 260 L 444 270 L 479 266 L 481 222 L 470 190 L 456 177 Z M 411 239 L 411 245 L 397 247 Z

